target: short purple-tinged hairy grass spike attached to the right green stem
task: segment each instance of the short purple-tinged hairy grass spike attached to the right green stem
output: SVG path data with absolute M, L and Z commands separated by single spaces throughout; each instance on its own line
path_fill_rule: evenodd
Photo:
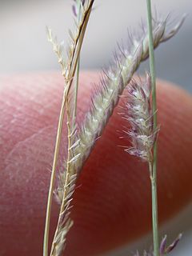
M 124 118 L 130 122 L 129 135 L 132 146 L 125 151 L 141 158 L 145 162 L 152 161 L 152 148 L 157 138 L 158 128 L 154 130 L 153 114 L 150 104 L 151 81 L 146 74 L 146 81 L 132 80 L 127 88 L 128 102 Z

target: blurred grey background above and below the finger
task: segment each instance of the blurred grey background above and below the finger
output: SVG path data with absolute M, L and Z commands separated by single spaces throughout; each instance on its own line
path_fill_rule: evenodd
M 73 28 L 72 0 L 0 0 L 0 74 L 29 73 L 42 70 L 58 70 L 58 62 L 46 40 L 45 27 L 50 26 L 58 39 L 67 42 L 68 29 Z M 156 70 L 159 78 L 178 83 L 192 92 L 192 2 L 190 0 L 154 0 L 154 10 L 161 17 L 170 16 L 170 25 L 188 14 L 179 33 L 155 51 Z M 126 42 L 127 28 L 137 29 L 146 20 L 146 1 L 96 0 L 86 39 L 82 47 L 82 69 L 100 69 L 113 58 L 117 42 Z M 148 62 L 141 72 L 148 70 Z M 192 206 L 183 210 L 171 222 L 162 227 L 162 234 L 184 232 L 184 238 L 174 255 L 191 256 Z M 150 246 L 146 236 L 134 245 L 117 249 L 110 255 L 127 255 L 136 248 Z M 171 255 L 171 254 L 170 254 Z

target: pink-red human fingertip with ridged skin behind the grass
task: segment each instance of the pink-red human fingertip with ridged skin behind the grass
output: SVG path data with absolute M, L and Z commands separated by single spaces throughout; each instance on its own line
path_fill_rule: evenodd
M 94 82 L 98 73 L 81 74 L 79 123 L 89 109 Z M 0 90 L 0 254 L 40 256 L 63 79 L 56 73 L 3 77 Z M 168 82 L 158 81 L 157 92 L 158 210 L 163 222 L 192 195 L 192 98 Z M 125 136 L 123 126 L 128 127 L 118 114 L 123 103 L 119 105 L 78 178 L 66 256 L 98 255 L 151 229 L 147 165 L 119 147 L 130 145 L 128 138 L 119 138 Z M 59 162 L 65 142 L 66 130 Z M 51 234 L 57 214 L 54 202 Z

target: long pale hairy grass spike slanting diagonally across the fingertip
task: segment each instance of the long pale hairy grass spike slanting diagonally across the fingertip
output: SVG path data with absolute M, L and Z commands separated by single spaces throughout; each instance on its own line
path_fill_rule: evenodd
M 165 42 L 168 38 L 177 33 L 182 21 L 175 26 L 173 30 L 166 31 L 166 21 L 154 22 L 153 27 L 153 40 L 154 47 L 157 47 L 161 42 Z M 149 42 L 148 35 L 142 34 L 141 38 L 134 41 L 134 46 L 127 50 L 121 50 L 121 61 L 111 68 L 104 78 L 102 78 L 100 90 L 94 94 L 92 98 L 92 107 L 86 114 L 85 121 L 82 123 L 80 130 L 78 130 L 76 141 L 77 146 L 74 148 L 74 155 L 78 155 L 78 159 L 74 162 L 74 169 L 79 171 L 82 169 L 83 163 L 90 155 L 90 151 L 94 146 L 95 140 L 102 133 L 106 122 L 109 120 L 113 113 L 114 107 L 118 103 L 119 95 L 130 82 L 134 72 L 138 69 L 139 64 L 148 58 L 149 55 Z M 62 180 L 61 174 L 61 180 Z M 62 200 L 62 186 L 58 187 L 59 201 Z M 57 192 L 56 192 L 57 193 Z M 57 193 L 58 194 L 58 193 Z

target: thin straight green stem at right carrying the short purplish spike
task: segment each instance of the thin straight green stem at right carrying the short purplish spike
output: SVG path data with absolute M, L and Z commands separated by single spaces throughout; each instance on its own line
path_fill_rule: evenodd
M 151 2 L 146 0 L 147 18 L 148 18 L 148 33 L 149 33 L 149 54 L 150 54 L 150 75 L 152 84 L 152 110 L 154 117 L 154 131 L 157 129 L 157 102 L 156 102 L 156 75 L 154 65 L 154 43 L 152 30 L 152 14 Z M 158 197 L 157 197 L 157 142 L 154 142 L 153 148 L 153 163 L 150 163 L 150 182 L 152 195 L 152 219 L 153 219 L 153 237 L 154 237 L 154 256 L 159 256 L 159 241 L 158 241 Z

